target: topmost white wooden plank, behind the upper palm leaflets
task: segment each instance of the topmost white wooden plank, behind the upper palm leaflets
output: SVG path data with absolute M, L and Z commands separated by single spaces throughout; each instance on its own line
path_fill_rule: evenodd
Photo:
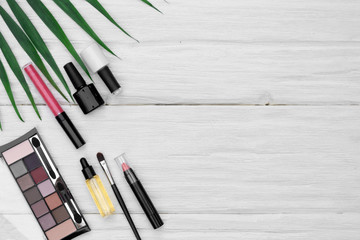
M 4 2 L 5 9 L 9 9 Z M 141 42 L 179 41 L 359 41 L 360 3 L 356 0 L 206 0 L 152 1 L 164 15 L 140 1 L 105 1 L 104 6 Z M 83 34 L 51 0 L 44 3 L 71 36 Z M 20 1 L 37 27 L 41 20 L 25 1 Z M 109 24 L 85 1 L 74 4 L 91 26 L 109 42 L 136 43 Z M 48 34 L 49 33 L 49 34 Z M 85 34 L 83 34 L 85 36 Z M 44 30 L 46 40 L 54 40 Z M 78 38 L 74 41 L 85 41 Z

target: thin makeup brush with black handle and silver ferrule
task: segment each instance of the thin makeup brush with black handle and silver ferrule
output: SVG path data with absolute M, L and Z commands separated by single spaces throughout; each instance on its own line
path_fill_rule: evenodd
M 110 182 L 111 188 L 113 189 L 114 194 L 115 194 L 117 200 L 119 201 L 119 204 L 120 204 L 120 206 L 121 206 L 121 208 L 122 208 L 122 210 L 123 210 L 123 212 L 125 214 L 126 219 L 128 220 L 128 222 L 129 222 L 129 224 L 131 226 L 131 229 L 133 230 L 133 232 L 134 232 L 134 234 L 136 236 L 136 239 L 141 240 L 140 235 L 139 235 L 139 233 L 138 233 L 138 231 L 136 229 L 136 226 L 135 226 L 135 224 L 134 224 L 134 222 L 133 222 L 133 220 L 132 220 L 132 218 L 130 216 L 129 210 L 127 209 L 126 204 L 125 204 L 123 198 L 121 197 L 120 191 L 119 191 L 119 189 L 117 188 L 117 186 L 116 186 L 116 184 L 114 182 L 114 179 L 113 179 L 113 177 L 111 175 L 110 169 L 109 169 L 109 167 L 108 167 L 108 165 L 107 165 L 107 163 L 105 161 L 104 155 L 102 153 L 98 153 L 96 156 L 97 156 L 97 158 L 99 160 L 99 163 L 100 163 L 102 169 L 104 170 L 104 172 L 106 174 L 107 179 Z

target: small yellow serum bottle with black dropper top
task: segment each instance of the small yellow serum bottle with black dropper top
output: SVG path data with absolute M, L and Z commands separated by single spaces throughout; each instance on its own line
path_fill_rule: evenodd
M 107 217 L 113 214 L 115 212 L 114 205 L 111 202 L 100 177 L 96 175 L 94 168 L 89 165 L 85 158 L 82 158 L 80 163 L 83 168 L 82 172 L 86 179 L 86 185 L 101 216 Z

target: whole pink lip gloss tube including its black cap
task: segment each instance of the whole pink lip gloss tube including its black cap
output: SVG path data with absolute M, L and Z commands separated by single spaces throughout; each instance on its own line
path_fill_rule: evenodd
M 54 114 L 56 120 L 59 122 L 62 129 L 64 129 L 66 135 L 70 138 L 71 142 L 76 148 L 80 148 L 85 144 L 84 139 L 81 137 L 79 131 L 71 122 L 68 115 L 61 108 L 58 101 L 56 101 L 54 95 L 50 92 L 46 86 L 36 68 L 32 63 L 26 64 L 23 67 L 25 73 L 29 76 L 30 80 L 34 83 L 36 89 L 39 91 L 46 104 Z

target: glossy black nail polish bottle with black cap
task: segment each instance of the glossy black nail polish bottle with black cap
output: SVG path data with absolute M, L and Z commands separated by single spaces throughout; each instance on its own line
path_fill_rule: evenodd
M 73 96 L 84 114 L 88 114 L 104 105 L 105 102 L 95 85 L 92 83 L 86 85 L 84 78 L 73 63 L 66 64 L 64 69 L 76 89 L 76 93 Z

